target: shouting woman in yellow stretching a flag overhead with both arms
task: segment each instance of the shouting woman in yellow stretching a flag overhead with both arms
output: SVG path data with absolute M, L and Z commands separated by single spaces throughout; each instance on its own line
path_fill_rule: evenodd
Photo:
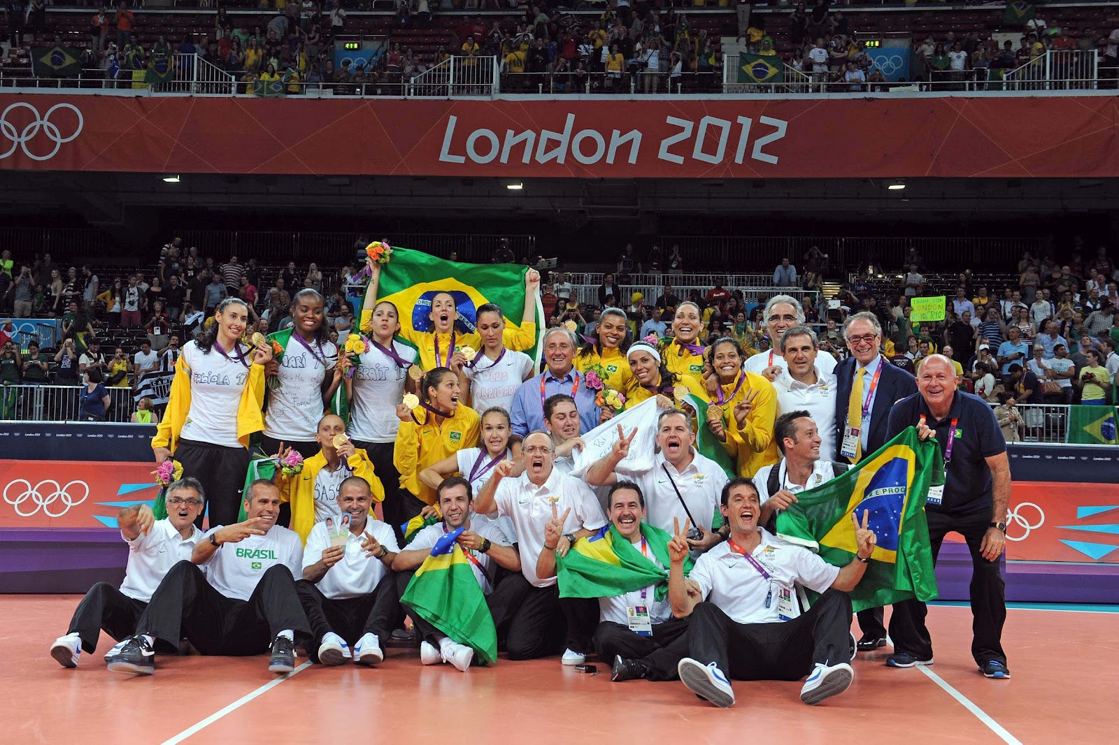
M 380 263 L 372 257 L 366 258 L 369 272 L 369 285 L 365 291 L 365 302 L 361 309 L 360 329 L 368 333 L 372 328 L 373 313 L 367 310 L 377 303 L 377 285 L 380 282 Z M 525 273 L 525 307 L 521 322 L 518 327 L 504 330 L 501 337 L 505 346 L 514 350 L 533 349 L 536 347 L 536 292 L 539 289 L 540 274 L 534 268 Z M 451 367 L 451 358 L 457 349 L 470 347 L 474 352 L 482 346 L 481 337 L 476 332 L 463 333 L 455 323 L 459 309 L 454 295 L 450 292 L 439 292 L 431 299 L 431 331 L 402 328 L 399 334 L 410 343 L 415 345 L 420 352 L 420 365 L 424 370 L 436 367 Z M 468 360 L 469 361 L 469 360 Z

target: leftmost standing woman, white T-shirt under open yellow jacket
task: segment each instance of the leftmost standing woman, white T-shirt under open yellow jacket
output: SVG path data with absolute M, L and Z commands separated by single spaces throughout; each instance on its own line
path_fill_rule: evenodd
M 214 322 L 184 345 L 167 412 L 151 441 L 157 465 L 173 455 L 184 477 L 201 482 L 210 526 L 237 521 L 248 436 L 264 428 L 264 366 L 272 348 L 242 345 L 247 326 L 245 301 L 226 298 Z

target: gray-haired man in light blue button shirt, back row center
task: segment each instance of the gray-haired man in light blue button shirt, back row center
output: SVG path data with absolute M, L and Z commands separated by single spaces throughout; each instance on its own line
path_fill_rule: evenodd
M 599 425 L 601 411 L 594 405 L 595 393 L 575 369 L 579 340 L 567 329 L 548 329 L 544 334 L 544 361 L 547 369 L 520 384 L 513 396 L 509 418 L 514 434 L 524 437 L 534 430 L 544 430 L 544 402 L 556 394 L 575 399 L 583 432 Z

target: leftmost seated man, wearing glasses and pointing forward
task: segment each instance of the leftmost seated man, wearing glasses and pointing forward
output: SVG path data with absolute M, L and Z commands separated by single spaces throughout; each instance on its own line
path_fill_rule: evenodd
M 107 582 L 90 588 L 74 611 L 69 631 L 50 645 L 50 657 L 64 668 L 74 668 L 82 650 L 92 654 L 97 648 L 102 629 L 117 641 L 135 633 L 137 621 L 163 575 L 178 562 L 189 560 L 195 545 L 201 540 L 203 531 L 195 527 L 195 518 L 201 515 L 205 499 L 203 485 L 187 477 L 167 488 L 167 517 L 162 520 L 156 519 L 148 504 L 121 510 L 116 525 L 121 538 L 129 544 L 124 582 L 120 590 Z M 105 659 L 122 647 L 123 641 L 109 650 Z

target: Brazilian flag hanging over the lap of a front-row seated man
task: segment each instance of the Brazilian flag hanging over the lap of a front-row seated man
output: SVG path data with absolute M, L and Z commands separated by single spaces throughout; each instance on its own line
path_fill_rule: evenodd
M 474 650 L 487 664 L 497 661 L 497 629 L 486 605 L 470 559 L 462 546 L 450 541 L 416 569 L 401 603 L 460 644 Z

